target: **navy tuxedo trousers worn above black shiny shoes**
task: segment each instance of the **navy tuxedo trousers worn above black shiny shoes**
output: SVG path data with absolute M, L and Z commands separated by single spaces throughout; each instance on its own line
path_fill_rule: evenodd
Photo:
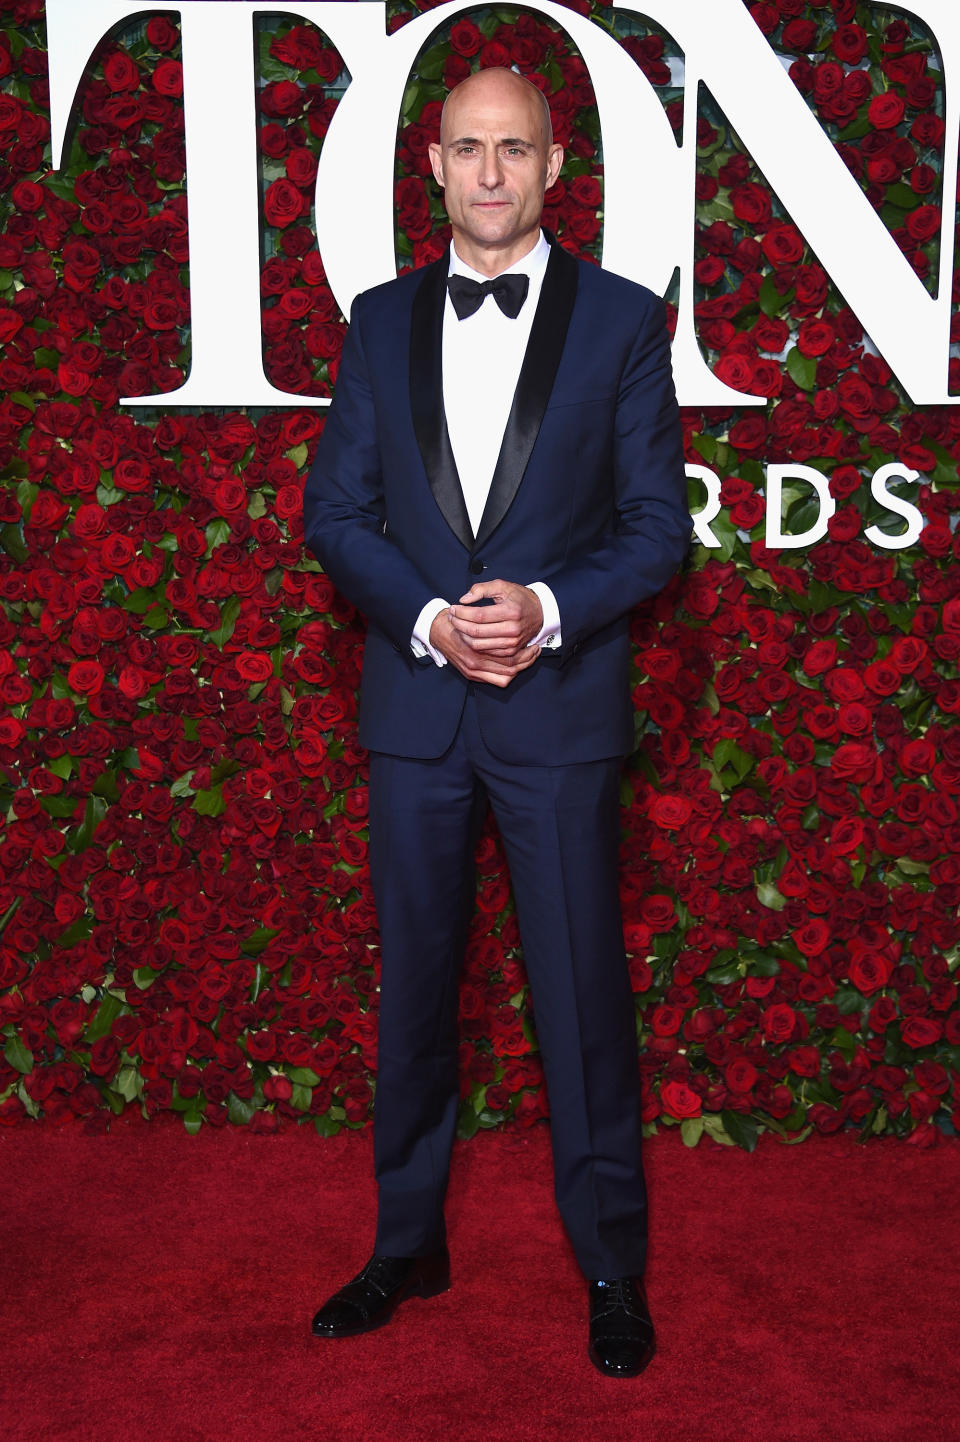
M 516 766 L 484 746 L 468 689 L 450 750 L 370 757 L 382 940 L 373 1113 L 376 1252 L 444 1240 L 457 1112 L 457 978 L 487 803 L 507 852 L 551 1103 L 556 1201 L 588 1278 L 640 1276 L 646 1190 L 634 1007 L 617 888 L 618 757 Z

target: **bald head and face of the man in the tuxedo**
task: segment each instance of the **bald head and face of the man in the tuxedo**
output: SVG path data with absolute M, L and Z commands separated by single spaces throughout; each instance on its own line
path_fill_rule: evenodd
M 430 159 L 467 264 L 494 274 L 532 248 L 564 151 L 549 143 L 543 105 L 528 81 L 490 69 L 458 85 Z

